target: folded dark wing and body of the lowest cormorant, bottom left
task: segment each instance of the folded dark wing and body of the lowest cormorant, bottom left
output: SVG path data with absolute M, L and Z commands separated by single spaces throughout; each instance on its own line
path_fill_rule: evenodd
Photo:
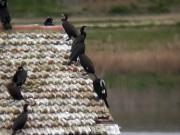
M 13 131 L 17 131 L 20 130 L 24 127 L 24 125 L 26 124 L 26 121 L 28 119 L 27 113 L 21 113 L 15 120 L 13 123 Z

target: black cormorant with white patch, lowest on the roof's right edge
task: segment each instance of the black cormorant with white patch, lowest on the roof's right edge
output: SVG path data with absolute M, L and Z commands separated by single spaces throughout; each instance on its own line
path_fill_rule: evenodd
M 93 81 L 94 91 L 97 93 L 99 99 L 103 99 L 106 106 L 109 108 L 109 104 L 107 102 L 107 89 L 105 86 L 105 81 L 99 78 L 96 78 Z

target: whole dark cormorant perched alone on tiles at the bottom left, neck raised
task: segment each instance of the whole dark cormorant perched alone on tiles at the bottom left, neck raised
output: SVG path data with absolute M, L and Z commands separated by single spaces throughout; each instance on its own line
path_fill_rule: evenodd
M 28 109 L 27 109 L 28 105 L 29 104 L 24 105 L 23 112 L 14 120 L 14 123 L 12 126 L 12 130 L 13 130 L 12 135 L 15 135 L 18 130 L 23 129 L 23 127 L 25 126 L 28 120 Z

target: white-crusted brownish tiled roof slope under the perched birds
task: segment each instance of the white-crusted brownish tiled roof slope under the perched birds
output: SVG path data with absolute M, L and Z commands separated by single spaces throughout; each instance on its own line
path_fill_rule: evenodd
M 23 96 L 31 106 L 24 134 L 107 133 L 96 124 L 111 120 L 109 110 L 93 93 L 92 80 L 79 65 L 67 65 L 72 41 L 59 33 L 3 33 L 0 35 L 0 134 L 9 134 L 24 101 L 12 102 L 6 83 L 18 65 L 28 79 Z

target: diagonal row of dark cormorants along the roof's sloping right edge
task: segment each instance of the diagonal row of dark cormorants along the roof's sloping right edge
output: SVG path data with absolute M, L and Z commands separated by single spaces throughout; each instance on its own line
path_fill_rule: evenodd
M 68 35 L 68 39 L 74 38 L 71 47 L 71 54 L 69 56 L 70 65 L 73 61 L 76 62 L 79 58 L 81 66 L 87 73 L 93 74 L 95 76 L 95 80 L 93 81 L 94 91 L 97 93 L 99 99 L 103 99 L 106 106 L 109 108 L 107 98 L 107 89 L 105 87 L 105 81 L 98 78 L 95 74 L 94 64 L 91 59 L 85 54 L 85 39 L 86 39 L 86 32 L 84 31 L 86 26 L 82 26 L 80 28 L 80 34 L 78 35 L 75 27 L 68 22 L 68 15 L 66 13 L 63 14 L 62 26 L 65 32 Z

